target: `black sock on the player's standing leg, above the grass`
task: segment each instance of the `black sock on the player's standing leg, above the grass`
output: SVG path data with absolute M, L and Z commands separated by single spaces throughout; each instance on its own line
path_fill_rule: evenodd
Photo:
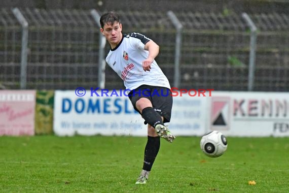
M 144 149 L 144 159 L 142 170 L 151 171 L 156 156 L 160 149 L 160 137 L 148 136 L 148 142 Z

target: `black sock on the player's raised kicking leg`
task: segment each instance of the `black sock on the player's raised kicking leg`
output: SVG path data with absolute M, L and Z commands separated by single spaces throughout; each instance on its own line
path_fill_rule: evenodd
M 144 118 L 145 122 L 149 123 L 154 128 L 157 124 L 164 124 L 161 115 L 152 107 L 142 109 L 141 116 Z

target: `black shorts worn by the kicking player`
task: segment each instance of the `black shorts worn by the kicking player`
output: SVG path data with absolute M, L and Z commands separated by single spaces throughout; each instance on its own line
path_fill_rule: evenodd
M 164 123 L 170 121 L 172 108 L 172 95 L 169 88 L 160 86 L 141 85 L 131 90 L 128 97 L 133 108 L 141 114 L 135 107 L 136 102 L 140 98 L 147 98 L 151 101 L 153 109 L 164 117 Z

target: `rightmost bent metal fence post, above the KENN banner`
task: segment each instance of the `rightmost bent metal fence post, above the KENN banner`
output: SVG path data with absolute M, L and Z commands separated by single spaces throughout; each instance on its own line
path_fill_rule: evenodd
M 245 19 L 250 27 L 250 55 L 249 55 L 249 75 L 248 75 L 248 91 L 254 89 L 255 79 L 255 58 L 256 58 L 256 44 L 257 44 L 257 27 L 251 18 L 246 14 L 242 13 L 242 17 Z

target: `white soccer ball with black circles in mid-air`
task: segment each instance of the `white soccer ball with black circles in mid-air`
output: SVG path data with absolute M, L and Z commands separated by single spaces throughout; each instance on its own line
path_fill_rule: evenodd
M 201 149 L 209 157 L 219 157 L 227 150 L 227 139 L 218 131 L 205 134 L 200 142 Z

